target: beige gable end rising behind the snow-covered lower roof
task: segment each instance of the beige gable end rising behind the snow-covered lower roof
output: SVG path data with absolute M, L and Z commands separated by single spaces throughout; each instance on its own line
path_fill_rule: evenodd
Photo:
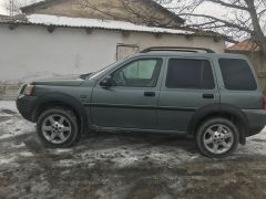
M 154 0 L 43 0 L 21 9 L 70 18 L 127 21 L 150 27 L 180 27 L 184 20 Z

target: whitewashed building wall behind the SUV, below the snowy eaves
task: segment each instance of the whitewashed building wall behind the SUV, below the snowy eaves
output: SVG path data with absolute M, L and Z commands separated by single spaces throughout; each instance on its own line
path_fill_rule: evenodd
M 57 28 L 49 33 L 44 27 L 9 30 L 0 25 L 0 82 L 28 82 L 57 75 L 81 74 L 100 70 L 116 59 L 116 44 L 205 46 L 224 51 L 224 41 L 211 38 L 185 39 L 178 35 L 131 33 L 120 31 Z

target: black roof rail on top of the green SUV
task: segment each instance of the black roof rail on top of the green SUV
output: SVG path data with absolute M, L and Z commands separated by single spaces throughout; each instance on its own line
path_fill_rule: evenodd
M 192 52 L 198 53 L 205 51 L 206 53 L 215 53 L 215 51 L 205 48 L 186 48 L 186 46 L 152 46 L 141 51 L 141 53 L 147 53 L 151 51 L 174 51 L 174 52 Z

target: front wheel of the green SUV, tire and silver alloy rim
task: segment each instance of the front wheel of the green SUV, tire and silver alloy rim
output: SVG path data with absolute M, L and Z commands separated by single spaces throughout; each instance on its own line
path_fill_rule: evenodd
M 73 112 L 52 107 L 44 111 L 37 122 L 37 133 L 50 147 L 70 147 L 80 137 L 80 128 Z

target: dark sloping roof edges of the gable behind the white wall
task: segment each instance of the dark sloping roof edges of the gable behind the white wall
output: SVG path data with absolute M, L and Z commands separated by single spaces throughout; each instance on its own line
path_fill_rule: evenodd
M 64 2 L 64 1 L 68 1 L 68 0 L 42 0 L 40 2 L 32 3 L 32 4 L 29 4 L 27 7 L 22 7 L 21 11 L 23 13 L 28 13 L 28 12 L 31 12 L 32 10 L 37 9 L 37 8 L 49 7 L 51 4 L 61 3 L 61 2 Z M 143 1 L 144 3 L 147 3 L 149 6 L 153 6 L 154 8 L 161 10 L 163 13 L 168 15 L 170 18 L 173 18 L 178 23 L 183 24 L 185 22 L 184 19 L 182 19 L 181 17 L 175 14 L 174 12 L 170 11 L 168 9 L 162 7 L 160 3 L 155 2 L 154 0 L 139 0 L 139 1 Z

